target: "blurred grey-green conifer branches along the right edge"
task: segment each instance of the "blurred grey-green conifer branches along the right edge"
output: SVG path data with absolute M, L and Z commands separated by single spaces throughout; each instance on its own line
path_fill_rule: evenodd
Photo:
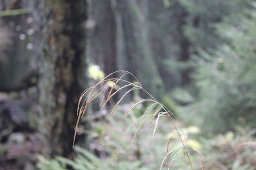
M 256 24 L 255 10 L 241 25 L 221 24 L 218 32 L 228 44 L 212 55 L 201 51 L 196 58 L 196 85 L 200 101 L 192 112 L 204 115 L 205 127 L 223 132 L 237 124 L 255 127 Z M 216 126 L 218 122 L 218 126 Z M 213 124 L 211 124 L 213 123 Z

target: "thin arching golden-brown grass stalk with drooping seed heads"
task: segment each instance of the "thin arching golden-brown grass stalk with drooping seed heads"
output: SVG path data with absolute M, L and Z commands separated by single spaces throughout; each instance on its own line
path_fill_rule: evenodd
M 122 74 L 122 75 L 119 78 L 110 78 L 111 76 L 113 76 L 113 74 Z M 125 80 L 124 79 L 125 76 L 130 76 L 130 77 L 134 78 L 134 82 Z M 111 87 L 109 87 L 109 84 L 110 84 L 110 83 L 108 83 L 109 81 L 112 82 Z M 119 84 L 122 83 L 122 86 L 118 85 L 118 83 Z M 108 95 L 106 96 L 106 89 L 107 88 L 110 88 L 110 90 L 108 92 Z M 128 90 L 125 90 L 125 89 L 128 89 Z M 127 117 L 129 115 L 130 111 L 132 109 L 134 109 L 134 107 L 136 107 L 140 103 L 150 102 L 152 104 L 150 104 L 150 106 L 148 106 L 148 108 L 144 111 L 143 115 L 141 115 L 136 120 L 136 122 L 134 122 L 134 125 L 135 125 L 135 124 L 138 123 L 139 120 L 144 118 L 142 123 L 139 125 L 138 129 L 136 129 L 136 133 L 134 134 L 134 138 L 135 138 L 137 132 L 139 131 L 141 125 L 144 124 L 145 121 L 148 120 L 148 118 L 150 118 L 150 117 L 152 117 L 150 122 L 152 122 L 152 120 L 154 120 L 154 118 L 156 118 L 156 122 L 155 122 L 155 126 L 154 126 L 154 132 L 152 134 L 153 138 L 154 138 L 154 134 L 155 134 L 156 129 L 157 129 L 157 124 L 158 124 L 159 118 L 160 117 L 169 117 L 175 131 L 177 132 L 177 134 L 179 136 L 180 142 L 182 143 L 183 150 L 184 150 L 184 152 L 185 152 L 185 154 L 188 158 L 189 166 L 193 170 L 194 168 L 193 168 L 191 159 L 189 157 L 188 149 L 186 148 L 184 140 L 182 139 L 182 136 L 181 136 L 180 132 L 177 129 L 177 126 L 175 125 L 175 123 L 173 121 L 172 111 L 168 110 L 168 108 L 166 108 L 166 106 L 159 103 L 149 92 L 147 92 L 147 90 L 143 89 L 140 81 L 138 81 L 138 79 L 134 76 L 134 74 L 130 73 L 129 71 L 115 71 L 115 72 L 109 74 L 108 76 L 106 76 L 104 79 L 100 80 L 93 87 L 90 87 L 90 88 L 84 90 L 84 92 L 81 94 L 81 97 L 79 98 L 79 102 L 78 102 L 78 106 L 77 106 L 77 122 L 76 122 L 76 129 L 75 129 L 75 133 L 74 133 L 73 146 L 74 146 L 74 143 L 76 141 L 77 127 L 79 125 L 79 122 L 80 122 L 81 118 L 83 118 L 84 114 L 86 113 L 86 109 L 88 108 L 88 104 L 92 103 L 92 101 L 95 100 L 97 97 L 102 97 L 103 96 L 102 100 L 101 100 L 101 103 L 99 105 L 100 105 L 101 108 L 104 108 L 104 106 L 106 106 L 106 104 L 109 102 L 109 100 L 113 96 L 118 94 L 118 92 L 120 92 L 121 90 L 125 90 L 124 94 L 122 94 L 120 99 L 116 102 L 115 106 L 113 106 L 113 109 L 110 111 L 109 117 L 111 117 L 111 115 L 115 111 L 116 107 L 118 106 L 118 104 L 120 104 L 120 102 L 124 99 L 124 97 L 127 96 L 128 94 L 130 94 L 132 91 L 138 90 L 138 89 L 141 90 L 142 92 L 144 92 L 148 96 L 148 99 L 141 99 L 137 103 L 132 104 L 132 106 L 129 108 L 129 110 L 127 110 L 126 113 L 124 114 L 124 117 Z M 154 111 L 154 114 L 147 115 L 147 111 L 150 108 L 153 108 L 153 109 L 156 108 L 156 110 Z M 133 129 L 133 127 L 132 127 L 132 129 Z M 122 138 L 124 138 L 124 135 L 122 136 Z M 134 138 L 132 139 L 132 142 L 134 141 Z M 167 151 L 169 150 L 170 141 L 171 141 L 171 139 L 168 141 Z M 116 153 L 116 160 L 118 158 L 118 153 L 119 153 L 119 150 L 120 150 L 121 143 L 122 143 L 122 139 L 120 140 L 120 144 L 118 146 L 118 150 L 117 150 L 117 153 Z M 164 163 L 165 159 L 168 157 L 168 155 L 172 151 L 173 150 L 171 150 L 170 152 L 168 151 L 166 153 L 166 155 L 164 157 L 164 160 L 161 164 L 160 169 L 163 167 L 163 163 Z M 172 159 L 172 162 L 168 166 L 168 169 L 170 169 L 170 166 L 172 165 L 173 161 L 175 159 L 177 159 L 177 157 L 179 157 L 179 155 L 180 155 L 180 151 L 175 154 L 175 156 Z M 202 159 L 202 154 L 200 154 L 200 157 Z

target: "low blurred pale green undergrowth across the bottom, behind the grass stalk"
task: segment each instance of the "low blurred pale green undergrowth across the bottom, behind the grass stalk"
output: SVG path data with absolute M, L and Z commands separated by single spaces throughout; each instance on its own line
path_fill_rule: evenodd
M 90 148 L 97 150 L 100 153 L 99 157 L 76 146 L 75 150 L 78 155 L 76 155 L 74 160 L 62 157 L 46 160 L 40 157 L 38 167 L 42 170 L 67 170 L 67 165 L 74 168 L 74 170 L 159 169 L 168 149 L 169 151 L 173 150 L 173 153 L 170 154 L 170 157 L 166 158 L 162 169 L 168 169 L 175 155 L 178 155 L 178 157 L 170 169 L 189 169 L 188 163 L 184 162 L 184 159 L 186 159 L 184 152 L 179 150 L 179 148 L 182 148 L 179 136 L 177 136 L 175 131 L 170 131 L 166 134 L 166 129 L 172 129 L 168 120 L 159 122 L 154 138 L 152 138 L 154 123 L 150 124 L 150 122 L 147 122 L 147 127 L 142 125 L 141 132 L 138 132 L 136 139 L 132 139 L 138 126 L 134 128 L 127 127 L 134 125 L 136 113 L 131 111 L 129 117 L 123 117 L 124 112 L 131 105 L 132 103 L 119 106 L 116 108 L 113 117 L 105 118 L 103 115 L 102 117 L 99 117 L 99 115 L 88 117 L 90 120 L 95 117 L 100 120 L 99 122 L 92 122 L 93 129 L 89 134 L 89 143 L 92 144 Z M 136 111 L 141 109 L 141 106 L 136 106 Z M 204 169 L 253 170 L 253 167 L 255 167 L 256 143 L 255 138 L 252 137 L 255 131 L 248 131 L 245 130 L 246 128 L 243 128 L 238 129 L 237 133 L 227 132 L 226 134 L 219 134 L 214 138 L 206 139 L 202 138 L 202 129 L 198 127 L 184 127 L 184 124 L 179 126 L 183 127 L 180 128 L 180 131 L 182 132 L 182 138 L 184 138 L 189 148 L 190 157 L 195 169 L 202 168 L 200 157 L 204 159 Z M 192 139 L 196 136 L 201 137 Z M 167 146 L 170 138 L 172 138 L 171 143 Z M 118 161 L 115 162 L 116 150 L 119 147 Z M 197 149 L 200 149 L 202 153 L 196 152 Z

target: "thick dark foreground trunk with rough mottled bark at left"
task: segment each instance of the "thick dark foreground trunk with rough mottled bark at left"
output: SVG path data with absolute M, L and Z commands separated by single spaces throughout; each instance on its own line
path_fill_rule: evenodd
M 84 0 L 45 0 L 44 57 L 40 68 L 43 154 L 72 151 L 76 106 L 85 85 L 87 4 Z

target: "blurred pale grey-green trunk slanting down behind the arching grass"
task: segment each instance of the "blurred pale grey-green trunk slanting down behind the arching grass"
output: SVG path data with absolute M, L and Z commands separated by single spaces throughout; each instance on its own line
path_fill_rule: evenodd
M 159 97 L 161 89 L 163 89 L 163 81 L 159 76 L 150 48 L 147 3 L 145 0 L 113 1 L 115 15 L 118 15 L 116 16 L 116 25 L 122 27 L 117 28 L 117 39 L 124 45 L 118 46 L 117 44 L 117 51 L 119 55 L 125 53 L 125 55 L 117 56 L 117 59 L 125 57 L 124 62 L 129 62 L 128 71 L 138 77 L 145 89 Z M 120 50 L 120 48 L 122 49 Z

